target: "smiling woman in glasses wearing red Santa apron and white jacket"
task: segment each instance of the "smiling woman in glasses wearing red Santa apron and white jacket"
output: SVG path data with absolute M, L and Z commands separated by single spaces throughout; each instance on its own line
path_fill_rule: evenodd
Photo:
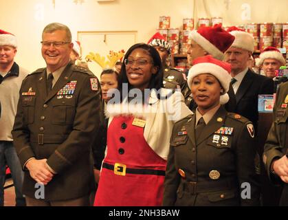
M 160 206 L 173 124 L 191 111 L 181 91 L 163 88 L 161 58 L 144 43 L 126 52 L 118 92 L 94 206 Z

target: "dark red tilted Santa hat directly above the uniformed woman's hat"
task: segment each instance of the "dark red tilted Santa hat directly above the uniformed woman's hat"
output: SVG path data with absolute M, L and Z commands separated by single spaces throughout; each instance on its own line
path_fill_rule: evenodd
M 189 34 L 189 39 L 195 41 L 214 58 L 222 61 L 224 52 L 232 45 L 235 37 L 223 30 L 221 25 L 202 27 Z

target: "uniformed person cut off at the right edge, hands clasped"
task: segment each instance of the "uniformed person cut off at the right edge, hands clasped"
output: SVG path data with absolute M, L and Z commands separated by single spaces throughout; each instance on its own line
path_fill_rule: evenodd
M 273 184 L 282 185 L 280 206 L 288 206 L 288 82 L 280 84 L 274 104 L 274 122 L 264 146 L 263 162 Z

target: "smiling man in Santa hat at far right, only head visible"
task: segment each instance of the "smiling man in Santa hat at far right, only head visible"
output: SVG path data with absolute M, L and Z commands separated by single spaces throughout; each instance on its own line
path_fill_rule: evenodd
M 285 58 L 276 47 L 266 47 L 260 54 L 257 61 L 258 66 L 262 66 L 265 76 L 274 78 L 276 70 L 286 65 Z

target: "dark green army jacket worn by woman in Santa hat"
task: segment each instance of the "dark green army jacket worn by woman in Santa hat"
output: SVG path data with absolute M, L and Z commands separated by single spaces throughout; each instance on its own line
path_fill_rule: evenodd
M 252 122 L 219 107 L 196 140 L 195 120 L 189 115 L 173 127 L 164 206 L 258 205 Z M 241 197 L 247 184 L 250 199 Z

